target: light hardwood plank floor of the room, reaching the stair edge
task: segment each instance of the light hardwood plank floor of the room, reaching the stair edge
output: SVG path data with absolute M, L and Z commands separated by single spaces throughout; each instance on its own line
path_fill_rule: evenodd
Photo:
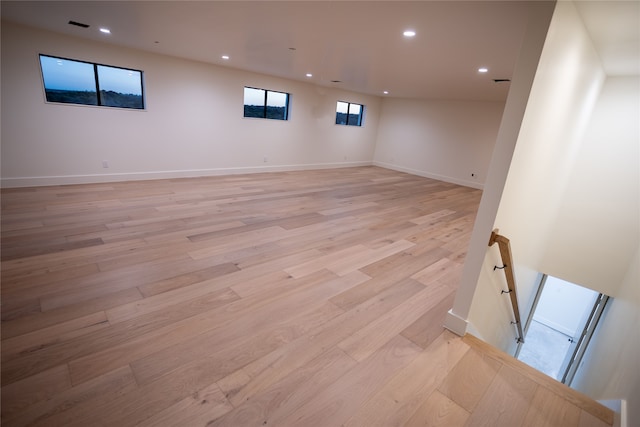
M 377 167 L 3 190 L 2 425 L 610 425 L 443 330 L 480 195 Z

